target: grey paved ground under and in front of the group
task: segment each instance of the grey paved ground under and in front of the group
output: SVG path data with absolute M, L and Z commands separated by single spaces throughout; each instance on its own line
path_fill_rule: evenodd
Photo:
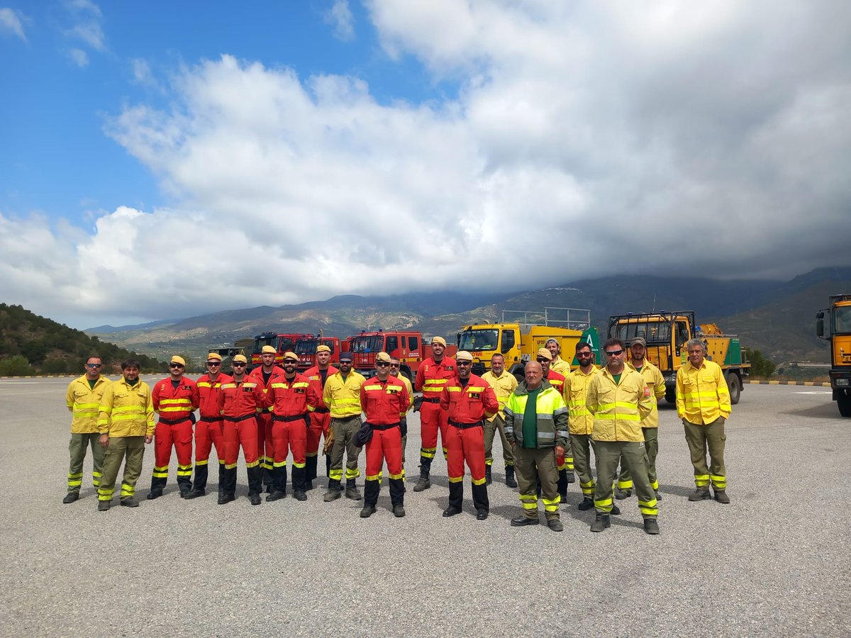
M 590 533 L 575 485 L 563 533 L 510 527 L 520 508 L 499 460 L 488 521 L 469 501 L 443 519 L 442 459 L 403 519 L 386 485 L 366 521 L 360 503 L 323 503 L 321 489 L 252 507 L 242 466 L 236 503 L 184 501 L 174 461 L 163 498 L 100 513 L 87 459 L 83 498 L 63 505 L 66 385 L 0 380 L 3 635 L 851 633 L 851 420 L 827 389 L 745 388 L 728 422 L 729 505 L 686 500 L 688 450 L 663 404 L 662 533 L 649 537 L 635 498 Z

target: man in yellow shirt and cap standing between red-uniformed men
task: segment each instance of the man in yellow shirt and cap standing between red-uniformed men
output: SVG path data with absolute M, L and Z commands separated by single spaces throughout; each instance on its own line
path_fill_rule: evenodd
M 361 428 L 361 386 L 363 374 L 351 369 L 351 352 L 340 353 L 340 370 L 325 381 L 323 401 L 331 411 L 331 430 L 334 445 L 331 447 L 331 469 L 328 470 L 328 492 L 323 500 L 340 498 L 340 483 L 343 481 L 343 453 L 346 453 L 346 498 L 360 500 L 355 479 L 361 476 L 357 469 L 357 457 L 361 448 L 355 445 L 355 434 Z

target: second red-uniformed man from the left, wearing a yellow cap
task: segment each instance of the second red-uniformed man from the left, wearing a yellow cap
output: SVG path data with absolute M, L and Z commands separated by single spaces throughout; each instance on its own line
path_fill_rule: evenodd
M 210 449 L 215 445 L 219 459 L 219 485 L 225 471 L 225 441 L 222 439 L 222 421 L 219 410 L 221 385 L 232 381 L 230 375 L 221 372 L 221 355 L 210 352 L 207 355 L 207 373 L 198 380 L 198 413 L 201 418 L 195 424 L 195 481 L 192 491 L 186 498 L 198 498 L 207 493 L 208 459 Z

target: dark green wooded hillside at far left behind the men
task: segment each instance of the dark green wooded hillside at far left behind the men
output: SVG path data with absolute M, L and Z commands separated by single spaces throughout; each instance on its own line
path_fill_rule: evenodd
M 143 372 L 162 371 L 163 362 L 89 337 L 20 305 L 0 304 L 0 376 L 83 373 L 89 356 L 103 360 L 105 374 L 121 373 L 124 359 L 137 359 Z

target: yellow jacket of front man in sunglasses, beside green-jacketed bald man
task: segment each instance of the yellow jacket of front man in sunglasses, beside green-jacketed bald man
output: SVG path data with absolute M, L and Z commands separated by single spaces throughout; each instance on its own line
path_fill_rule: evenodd
M 585 406 L 594 415 L 594 441 L 644 441 L 642 419 L 653 409 L 653 397 L 644 378 L 624 366 L 620 384 L 614 383 L 608 366 L 591 378 Z

